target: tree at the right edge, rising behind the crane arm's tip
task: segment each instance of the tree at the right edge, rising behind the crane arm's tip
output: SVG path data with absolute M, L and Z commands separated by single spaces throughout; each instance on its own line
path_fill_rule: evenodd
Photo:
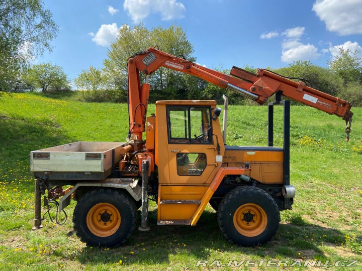
M 362 83 L 362 61 L 357 51 L 339 48 L 338 54 L 328 62 L 330 69 L 340 75 L 346 84 L 351 82 Z

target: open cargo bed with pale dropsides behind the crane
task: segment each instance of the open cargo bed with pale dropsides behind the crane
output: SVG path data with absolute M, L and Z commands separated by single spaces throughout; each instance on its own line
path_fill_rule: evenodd
M 121 160 L 124 142 L 74 142 L 30 153 L 36 178 L 47 180 L 104 180 Z

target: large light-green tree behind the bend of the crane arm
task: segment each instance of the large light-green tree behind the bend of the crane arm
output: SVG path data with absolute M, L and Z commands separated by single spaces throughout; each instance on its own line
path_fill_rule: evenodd
M 181 27 L 173 25 L 167 29 L 161 27 L 148 30 L 143 24 L 134 28 L 123 25 L 118 33 L 117 40 L 111 44 L 108 58 L 104 61 L 104 70 L 111 78 L 115 88 L 127 93 L 127 59 L 133 54 L 144 51 L 157 45 L 162 51 L 173 55 L 183 55 L 186 59 L 195 61 L 193 45 L 188 41 L 186 33 Z M 167 97 L 169 99 L 185 97 L 186 75 L 160 68 L 150 77 L 150 101 Z M 144 75 L 141 74 L 141 81 Z

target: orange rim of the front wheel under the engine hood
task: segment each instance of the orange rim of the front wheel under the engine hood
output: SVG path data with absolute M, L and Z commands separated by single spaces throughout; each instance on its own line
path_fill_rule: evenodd
M 240 234 L 254 237 L 262 233 L 266 228 L 267 216 L 260 206 L 246 203 L 236 210 L 233 222 Z

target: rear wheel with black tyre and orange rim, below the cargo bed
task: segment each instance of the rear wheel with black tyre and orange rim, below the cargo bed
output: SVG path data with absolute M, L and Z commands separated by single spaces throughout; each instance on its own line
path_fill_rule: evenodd
M 78 200 L 73 227 L 87 245 L 117 247 L 126 242 L 134 230 L 136 214 L 136 202 L 127 192 L 96 189 Z

